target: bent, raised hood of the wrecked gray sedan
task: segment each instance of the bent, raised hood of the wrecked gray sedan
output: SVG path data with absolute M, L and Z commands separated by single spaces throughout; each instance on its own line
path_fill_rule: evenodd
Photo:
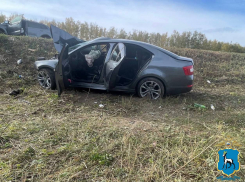
M 73 46 L 82 42 L 84 40 L 78 39 L 77 37 L 72 36 L 68 32 L 54 26 L 50 25 L 50 32 L 53 38 L 54 47 L 60 53 L 63 46 L 68 44 L 68 46 Z

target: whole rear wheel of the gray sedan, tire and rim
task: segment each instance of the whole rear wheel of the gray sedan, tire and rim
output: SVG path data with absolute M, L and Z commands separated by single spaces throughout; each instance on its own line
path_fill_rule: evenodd
M 156 100 L 164 96 L 164 91 L 162 82 L 153 77 L 144 78 L 137 86 L 137 94 L 141 98 L 149 96 L 151 99 Z

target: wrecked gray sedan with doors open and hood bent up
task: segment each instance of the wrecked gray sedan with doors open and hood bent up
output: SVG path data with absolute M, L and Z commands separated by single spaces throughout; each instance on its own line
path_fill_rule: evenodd
M 158 99 L 189 92 L 193 60 L 144 42 L 97 38 L 79 40 L 51 25 L 58 59 L 35 62 L 38 81 L 58 95 L 70 87 L 137 93 Z

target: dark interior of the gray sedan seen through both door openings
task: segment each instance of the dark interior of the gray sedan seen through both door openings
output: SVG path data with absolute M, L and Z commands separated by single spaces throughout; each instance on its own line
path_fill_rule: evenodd
M 117 74 L 116 86 L 126 86 L 137 76 L 141 68 L 152 58 L 144 48 L 125 44 L 126 57 Z M 109 44 L 97 44 L 74 51 L 69 56 L 69 70 L 72 80 L 96 83 L 100 79 Z

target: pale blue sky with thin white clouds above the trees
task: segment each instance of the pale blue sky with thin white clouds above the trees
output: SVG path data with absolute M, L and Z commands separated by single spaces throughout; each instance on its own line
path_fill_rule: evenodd
M 27 19 L 81 22 L 126 31 L 199 31 L 245 46 L 245 0 L 1 0 L 0 13 Z

